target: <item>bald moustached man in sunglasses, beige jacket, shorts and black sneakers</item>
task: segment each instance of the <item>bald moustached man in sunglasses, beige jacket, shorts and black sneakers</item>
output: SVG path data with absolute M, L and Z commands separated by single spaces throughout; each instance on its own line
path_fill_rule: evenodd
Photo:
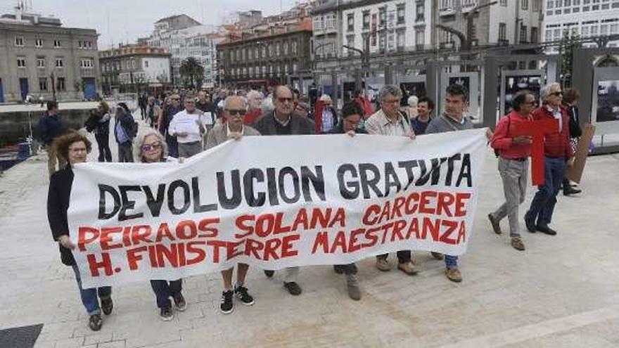
M 227 140 L 234 138 L 240 139 L 242 136 L 259 136 L 260 133 L 243 124 L 243 118 L 247 112 L 247 103 L 245 98 L 240 96 L 229 96 L 224 101 L 224 108 L 222 113 L 226 118 L 226 122 L 217 124 L 206 135 L 206 148 L 213 148 L 221 143 L 225 143 Z M 222 277 L 224 278 L 224 291 L 222 292 L 222 301 L 219 304 L 219 310 L 223 314 L 230 314 L 234 310 L 234 303 L 232 299 L 234 296 L 241 304 L 245 306 L 251 306 L 254 304 L 254 298 L 249 295 L 247 288 L 245 288 L 245 275 L 249 269 L 248 264 L 237 264 L 236 268 L 236 284 L 234 288 L 232 286 L 232 273 L 234 267 L 222 271 Z

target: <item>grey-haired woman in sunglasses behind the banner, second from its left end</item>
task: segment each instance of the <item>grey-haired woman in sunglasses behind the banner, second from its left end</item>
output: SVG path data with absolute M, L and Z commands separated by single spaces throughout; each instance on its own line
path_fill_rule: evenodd
M 155 129 L 146 129 L 136 137 L 135 150 L 136 162 L 155 163 L 155 162 L 177 162 L 174 157 L 167 156 L 167 144 L 165 138 Z M 179 159 L 182 162 L 182 158 Z M 171 321 L 174 318 L 172 312 L 172 302 L 177 311 L 184 311 L 187 308 L 185 298 L 182 294 L 183 281 L 152 280 L 151 287 L 155 292 L 159 315 L 163 321 Z

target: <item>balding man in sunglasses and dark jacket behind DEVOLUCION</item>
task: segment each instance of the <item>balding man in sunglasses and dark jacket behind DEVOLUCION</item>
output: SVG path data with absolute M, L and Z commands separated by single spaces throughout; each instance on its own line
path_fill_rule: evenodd
M 293 113 L 293 94 L 286 86 L 276 86 L 273 90 L 274 112 L 262 115 L 254 128 L 262 135 L 300 135 L 314 134 L 314 121 Z M 267 277 L 272 277 L 274 271 L 265 270 Z M 284 276 L 283 286 L 291 295 L 300 295 L 301 287 L 297 283 L 298 267 L 288 267 Z

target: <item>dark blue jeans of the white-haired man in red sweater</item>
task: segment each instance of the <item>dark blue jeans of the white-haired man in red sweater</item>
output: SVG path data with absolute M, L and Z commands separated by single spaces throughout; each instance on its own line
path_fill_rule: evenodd
M 556 205 L 556 195 L 559 193 L 565 172 L 564 157 L 544 157 L 544 184 L 537 186 L 537 193 L 531 201 L 526 219 L 531 219 L 537 226 L 547 227 L 550 224 Z

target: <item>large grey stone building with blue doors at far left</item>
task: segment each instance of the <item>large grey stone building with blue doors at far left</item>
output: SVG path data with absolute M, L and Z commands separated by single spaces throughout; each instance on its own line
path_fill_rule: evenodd
M 100 90 L 96 30 L 18 8 L 0 16 L 0 103 L 82 100 Z

